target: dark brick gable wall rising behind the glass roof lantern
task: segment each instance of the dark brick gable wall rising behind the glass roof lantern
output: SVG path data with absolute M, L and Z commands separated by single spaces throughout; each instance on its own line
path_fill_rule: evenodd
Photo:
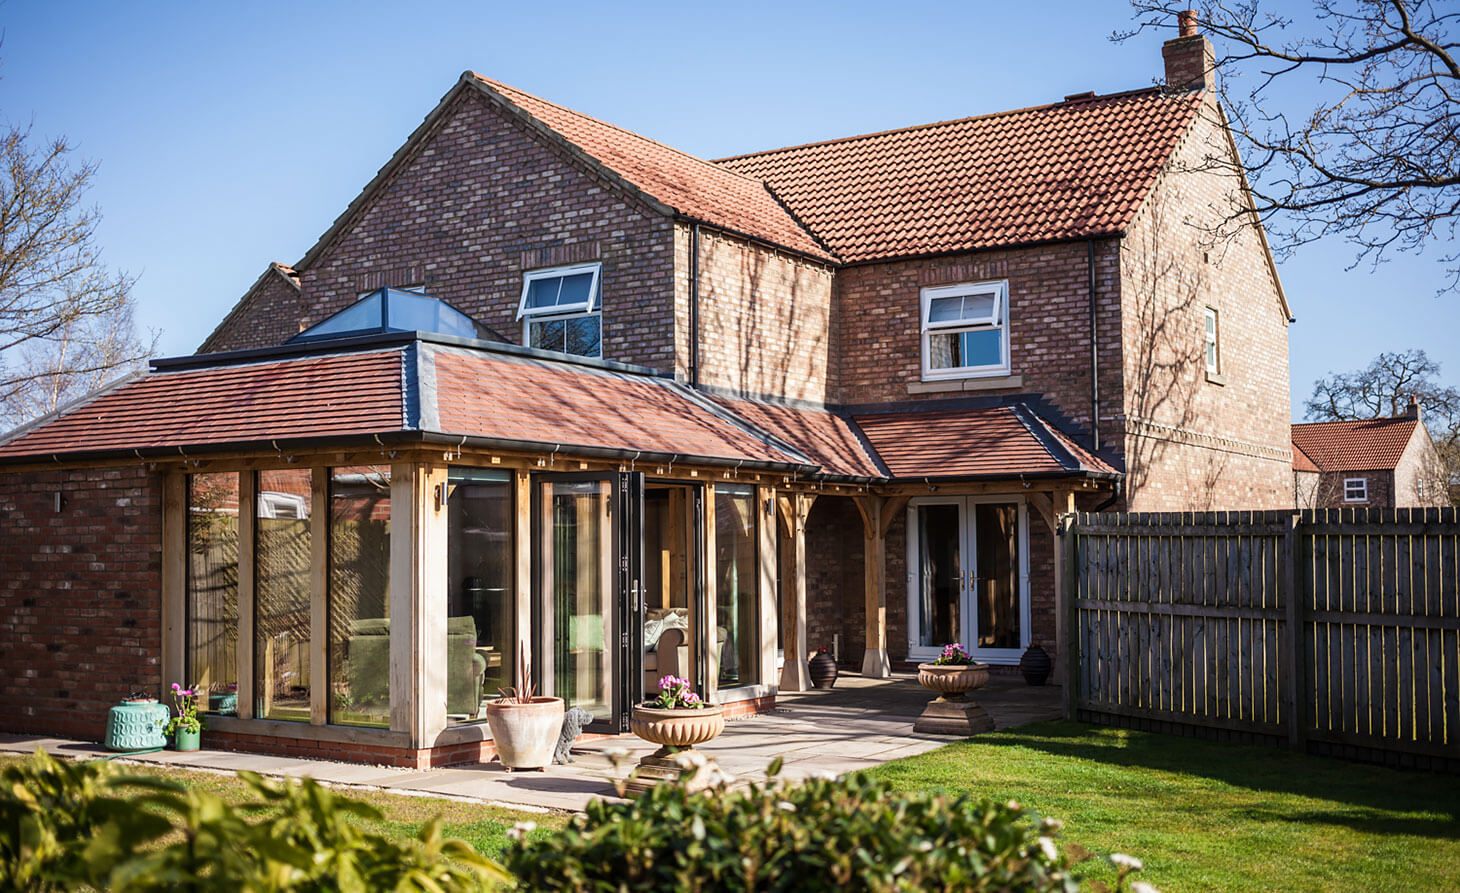
M 672 368 L 672 220 L 467 89 L 301 271 L 302 299 L 260 295 L 210 346 L 261 346 L 260 320 L 270 339 L 293 334 L 415 285 L 521 343 L 523 273 L 588 261 L 603 264 L 604 359 Z

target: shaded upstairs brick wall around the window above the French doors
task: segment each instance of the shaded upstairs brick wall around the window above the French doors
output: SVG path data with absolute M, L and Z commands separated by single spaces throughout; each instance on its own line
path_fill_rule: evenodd
M 1120 304 L 1115 242 L 1095 247 L 1101 391 L 1118 395 Z M 923 382 L 921 289 L 1009 282 L 1010 379 Z M 1089 267 L 1085 242 L 848 267 L 837 274 L 840 403 L 1041 393 L 1072 433 L 1091 422 Z M 984 385 L 1002 385 L 987 390 Z M 975 385 L 980 390 L 962 390 Z M 1107 413 L 1102 411 L 1102 416 Z M 1102 441 L 1117 436 L 1102 422 Z

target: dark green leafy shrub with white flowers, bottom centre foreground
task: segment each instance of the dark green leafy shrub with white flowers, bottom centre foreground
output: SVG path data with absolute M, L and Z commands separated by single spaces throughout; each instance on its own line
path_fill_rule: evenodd
M 507 865 L 529 890 L 1075 890 L 1058 823 L 851 775 L 594 801 Z M 1072 848 L 1075 849 L 1075 848 Z M 1124 880 L 1124 873 L 1121 873 Z

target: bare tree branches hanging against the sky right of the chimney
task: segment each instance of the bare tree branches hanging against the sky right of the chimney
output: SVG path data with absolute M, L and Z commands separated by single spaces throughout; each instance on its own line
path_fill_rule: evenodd
M 1174 29 L 1194 6 L 1218 93 L 1245 156 L 1251 212 L 1291 250 L 1324 236 L 1355 264 L 1434 247 L 1460 286 L 1460 6 L 1313 0 L 1288 18 L 1261 0 L 1133 0 L 1137 25 Z M 1231 165 L 1222 153 L 1212 163 Z M 1245 219 L 1231 222 L 1245 225 Z

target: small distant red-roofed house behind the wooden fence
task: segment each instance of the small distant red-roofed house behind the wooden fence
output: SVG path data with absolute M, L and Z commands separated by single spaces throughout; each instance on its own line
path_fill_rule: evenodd
M 1419 401 L 1405 414 L 1292 426 L 1298 508 L 1442 508 L 1448 480 Z

